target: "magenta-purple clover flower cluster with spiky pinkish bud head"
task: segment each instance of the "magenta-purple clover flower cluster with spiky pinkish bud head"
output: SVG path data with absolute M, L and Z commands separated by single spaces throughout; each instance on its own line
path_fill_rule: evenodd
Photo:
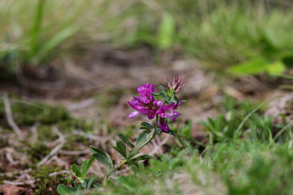
M 182 79 L 182 78 L 181 78 Z M 176 94 L 179 91 L 182 91 L 182 88 L 184 85 L 181 85 L 179 87 L 180 81 L 178 81 L 177 75 L 175 75 L 173 84 L 171 86 L 169 79 L 168 80 L 168 88 L 164 89 L 169 89 L 169 90 L 164 90 L 165 93 L 160 93 L 156 94 L 155 93 L 155 88 L 153 84 L 144 84 L 141 85 L 138 89 L 137 92 L 139 93 L 138 98 L 133 96 L 133 99 L 130 101 L 127 101 L 129 105 L 135 110 L 129 114 L 129 118 L 134 118 L 138 116 L 139 114 L 144 114 L 147 115 L 148 118 L 151 120 L 155 118 L 155 115 L 158 115 L 158 126 L 161 130 L 168 132 L 170 130 L 170 127 L 166 123 L 166 118 L 168 116 L 169 120 L 176 120 L 175 117 L 179 117 L 181 114 L 176 111 L 177 107 L 182 103 L 182 101 L 176 101 Z M 166 96 L 167 93 L 172 93 L 172 97 L 174 99 L 167 99 L 169 96 Z M 162 94 L 162 95 L 161 95 Z M 169 94 L 168 94 L 169 95 Z M 155 96 L 161 96 L 166 99 L 165 102 L 155 99 Z M 167 97 L 167 98 L 166 98 Z M 173 100 L 173 102 L 171 101 Z M 175 102 L 176 103 L 175 103 Z

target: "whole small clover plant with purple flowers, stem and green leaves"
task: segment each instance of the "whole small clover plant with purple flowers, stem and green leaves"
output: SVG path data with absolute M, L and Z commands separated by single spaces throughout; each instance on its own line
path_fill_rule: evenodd
M 134 111 L 129 114 L 129 118 L 134 118 L 140 114 L 147 115 L 149 120 L 156 118 L 156 123 L 154 125 L 151 125 L 148 122 L 142 122 L 142 127 L 139 128 L 154 129 L 151 136 L 147 139 L 147 131 L 144 131 L 138 136 L 135 144 L 132 144 L 124 134 L 118 134 L 122 141 L 124 141 L 125 144 L 131 148 L 130 152 L 127 152 L 126 145 L 122 141 L 118 141 L 116 146 L 112 146 L 118 152 L 118 157 L 122 160 L 119 164 L 115 164 L 115 161 L 102 150 L 90 146 L 90 151 L 93 153 L 91 155 L 92 158 L 88 162 L 84 161 L 82 163 L 82 170 L 80 170 L 77 165 L 72 165 L 72 171 L 75 173 L 75 175 L 71 176 L 71 178 L 67 178 L 68 182 L 74 184 L 74 188 L 59 184 L 57 187 L 59 194 L 73 194 L 74 191 L 88 189 L 92 185 L 94 187 L 100 187 L 101 184 L 94 183 L 96 177 L 85 179 L 86 173 L 94 159 L 98 160 L 100 163 L 109 168 L 109 171 L 105 174 L 103 180 L 103 186 L 106 186 L 110 182 L 108 181 L 108 177 L 122 165 L 132 164 L 130 167 L 134 168 L 134 165 L 137 165 L 137 161 L 154 158 L 149 154 L 143 154 L 139 156 L 137 155 L 141 152 L 139 150 L 142 149 L 147 143 L 149 143 L 149 141 L 151 141 L 157 133 L 160 134 L 163 132 L 176 136 L 176 133 L 173 130 L 170 130 L 170 127 L 167 124 L 167 120 L 168 118 L 170 121 L 176 120 L 175 117 L 179 117 L 181 115 L 176 111 L 178 106 L 185 102 L 185 100 L 178 101 L 179 96 L 177 93 L 182 91 L 184 86 L 184 84 L 180 85 L 181 79 L 179 80 L 178 76 L 175 75 L 171 85 L 169 79 L 167 78 L 168 87 L 159 86 L 159 90 L 161 91 L 159 94 L 155 93 L 155 87 L 153 84 L 146 83 L 139 86 L 137 89 L 137 92 L 139 93 L 138 98 L 133 96 L 131 102 L 127 101 L 134 109 Z M 165 101 L 163 102 L 158 98 L 165 98 Z M 154 175 L 154 177 L 157 177 L 160 174 L 159 172 L 153 172 L 151 170 L 150 173 Z M 132 177 L 133 176 L 121 176 L 118 180 L 118 183 L 122 185 L 126 185 L 126 181 L 131 181 L 132 183 L 135 181 Z

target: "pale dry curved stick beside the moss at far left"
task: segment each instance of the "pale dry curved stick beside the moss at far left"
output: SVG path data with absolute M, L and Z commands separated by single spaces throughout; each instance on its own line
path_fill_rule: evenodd
M 13 120 L 12 111 L 11 111 L 10 103 L 9 103 L 9 100 L 8 100 L 8 93 L 7 92 L 5 92 L 3 94 L 3 102 L 4 102 L 5 113 L 6 113 L 6 118 L 7 118 L 8 125 L 17 134 L 18 139 L 23 140 L 23 134 L 22 134 L 20 128 L 16 125 L 16 123 Z

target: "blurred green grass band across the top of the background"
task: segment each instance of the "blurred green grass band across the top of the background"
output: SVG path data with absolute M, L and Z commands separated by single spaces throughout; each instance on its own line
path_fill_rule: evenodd
M 258 74 L 293 65 L 292 1 L 2 0 L 0 77 L 18 65 L 103 44 L 147 46 L 196 58 L 204 68 Z M 8 74 L 9 75 L 9 74 Z

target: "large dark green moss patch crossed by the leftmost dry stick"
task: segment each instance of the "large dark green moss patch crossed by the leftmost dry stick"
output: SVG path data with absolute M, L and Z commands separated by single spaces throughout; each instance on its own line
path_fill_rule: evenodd
M 62 133 L 70 132 L 72 129 L 80 129 L 85 132 L 93 130 L 92 124 L 84 119 L 71 117 L 64 106 L 52 107 L 45 104 L 32 106 L 24 103 L 11 102 L 11 110 L 14 120 L 19 126 L 32 126 L 40 122 L 38 126 L 38 138 L 40 140 L 52 140 L 56 134 L 52 133 L 52 126 L 55 125 Z M 0 102 L 0 121 L 7 129 L 4 105 Z

